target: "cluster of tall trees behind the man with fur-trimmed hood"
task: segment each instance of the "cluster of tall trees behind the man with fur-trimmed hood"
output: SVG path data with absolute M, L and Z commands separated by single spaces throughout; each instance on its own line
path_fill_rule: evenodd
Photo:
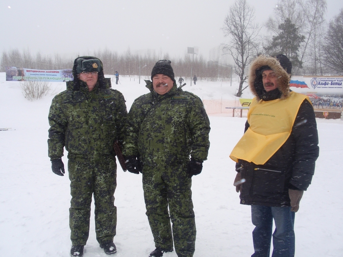
M 246 68 L 259 54 L 286 54 L 297 75 L 343 75 L 343 10 L 325 23 L 326 0 L 279 0 L 264 26 L 255 22 L 247 0 L 236 0 L 224 20 L 222 44 L 245 90 Z M 267 35 L 261 35 L 262 28 Z

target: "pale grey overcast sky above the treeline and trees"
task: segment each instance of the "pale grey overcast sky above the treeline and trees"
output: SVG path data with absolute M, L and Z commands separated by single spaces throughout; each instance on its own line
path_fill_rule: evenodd
M 272 15 L 277 0 L 248 0 L 256 22 Z M 75 57 L 95 50 L 123 53 L 155 49 L 183 56 L 198 47 L 204 58 L 224 43 L 221 27 L 234 0 L 1 0 L 0 52 Z M 326 20 L 343 8 L 327 0 Z

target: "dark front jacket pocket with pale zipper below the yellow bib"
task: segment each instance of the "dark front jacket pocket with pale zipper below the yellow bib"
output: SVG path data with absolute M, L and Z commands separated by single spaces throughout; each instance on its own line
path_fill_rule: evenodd
M 272 167 L 254 168 L 252 195 L 274 198 L 283 193 L 284 187 L 284 170 Z

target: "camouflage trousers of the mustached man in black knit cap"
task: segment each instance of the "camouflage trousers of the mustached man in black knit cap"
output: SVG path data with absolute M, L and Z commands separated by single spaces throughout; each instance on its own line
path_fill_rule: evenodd
M 174 241 L 178 257 L 193 257 L 195 252 L 196 222 L 191 186 L 186 164 L 145 165 L 143 168 L 146 213 L 155 247 L 172 250 Z

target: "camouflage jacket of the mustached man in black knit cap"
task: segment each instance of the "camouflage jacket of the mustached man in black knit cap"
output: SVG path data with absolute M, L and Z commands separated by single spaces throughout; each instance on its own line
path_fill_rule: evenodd
M 137 98 L 129 111 L 123 155 L 137 156 L 147 165 L 180 164 L 190 155 L 207 159 L 210 121 L 199 97 L 176 87 L 159 95 L 147 82 L 150 93 Z

